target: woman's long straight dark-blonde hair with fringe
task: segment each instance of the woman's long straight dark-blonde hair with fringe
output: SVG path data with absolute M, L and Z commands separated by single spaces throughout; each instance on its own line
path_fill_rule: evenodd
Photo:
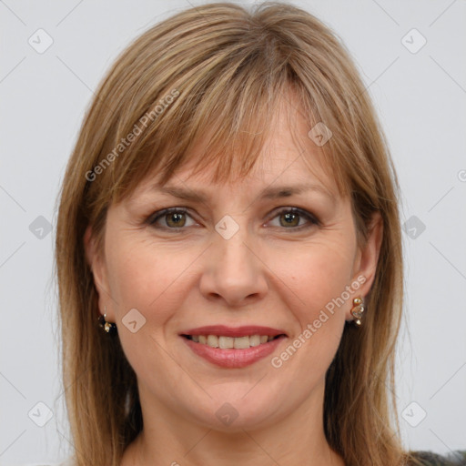
M 340 193 L 351 199 L 360 242 L 374 212 L 383 221 L 367 316 L 360 329 L 345 326 L 327 372 L 325 433 L 348 465 L 410 459 L 388 392 L 403 294 L 399 187 L 370 98 L 339 38 L 313 15 L 275 2 L 250 12 L 217 3 L 173 15 L 127 47 L 99 86 L 66 167 L 56 276 L 78 466 L 118 466 L 142 429 L 136 375 L 119 339 L 96 325 L 86 227 L 103 250 L 107 208 L 147 174 L 168 180 L 207 133 L 198 170 L 216 167 L 215 181 L 248 174 L 267 140 L 269 116 L 289 90 L 309 129 L 324 122 L 333 133 L 321 149 Z

